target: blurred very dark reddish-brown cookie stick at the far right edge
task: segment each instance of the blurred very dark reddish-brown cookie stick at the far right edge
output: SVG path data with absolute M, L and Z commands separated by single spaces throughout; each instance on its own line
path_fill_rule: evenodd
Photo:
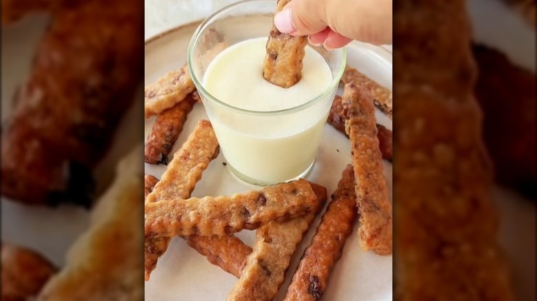
M 535 74 L 493 49 L 474 45 L 473 50 L 479 68 L 476 98 L 496 179 L 536 198 Z

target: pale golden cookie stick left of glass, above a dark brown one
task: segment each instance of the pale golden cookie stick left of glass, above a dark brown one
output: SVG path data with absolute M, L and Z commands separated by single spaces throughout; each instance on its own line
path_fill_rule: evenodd
M 190 77 L 188 66 L 171 71 L 144 89 L 144 115 L 149 118 L 162 113 L 185 100 L 196 87 Z

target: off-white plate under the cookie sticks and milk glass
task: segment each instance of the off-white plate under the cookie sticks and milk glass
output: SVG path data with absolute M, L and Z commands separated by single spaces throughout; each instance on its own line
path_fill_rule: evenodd
M 156 38 L 150 39 L 145 46 L 145 84 L 178 69 L 186 63 L 187 46 L 196 23 L 179 27 Z M 392 56 L 381 47 L 352 43 L 348 47 L 348 64 L 359 67 L 365 74 L 377 80 L 381 85 L 392 87 Z M 392 122 L 378 112 L 379 122 L 392 129 Z M 178 150 L 187 139 L 189 133 L 200 119 L 207 119 L 202 104 L 197 104 L 189 114 L 173 152 Z M 145 136 L 151 132 L 154 118 L 145 122 Z M 205 195 L 233 194 L 251 189 L 255 186 L 243 183 L 231 175 L 224 167 L 222 153 L 214 159 L 193 191 L 193 197 Z M 392 165 L 384 161 L 384 171 L 388 179 L 391 197 Z M 307 179 L 326 186 L 328 194 L 337 187 L 337 181 L 346 164 L 350 164 L 350 144 L 341 133 L 326 125 L 316 162 Z M 159 177 L 166 166 L 145 164 L 145 173 Z M 310 227 L 310 231 L 297 248 L 286 282 L 280 290 L 280 300 L 293 276 L 298 259 L 319 223 L 320 215 Z M 238 234 L 244 243 L 252 245 L 253 231 Z M 225 300 L 237 279 L 222 271 L 220 267 L 211 265 L 204 256 L 191 249 L 184 240 L 173 238 L 167 252 L 158 261 L 157 268 L 145 285 L 146 300 Z M 355 231 L 348 239 L 343 255 L 337 263 L 324 300 L 392 300 L 392 256 L 378 256 L 372 252 L 363 252 L 359 248 Z

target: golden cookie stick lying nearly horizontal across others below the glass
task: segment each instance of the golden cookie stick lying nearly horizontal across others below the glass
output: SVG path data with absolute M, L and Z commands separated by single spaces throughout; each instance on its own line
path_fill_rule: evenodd
M 222 236 L 254 230 L 274 220 L 288 221 L 302 216 L 316 208 L 316 200 L 309 182 L 299 179 L 231 197 L 148 202 L 145 237 Z

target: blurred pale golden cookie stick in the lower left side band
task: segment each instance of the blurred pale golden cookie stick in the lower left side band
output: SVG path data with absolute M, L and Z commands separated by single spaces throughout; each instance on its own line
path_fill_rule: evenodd
M 116 178 L 93 209 L 89 229 L 38 301 L 143 300 L 142 146 L 118 164 Z

